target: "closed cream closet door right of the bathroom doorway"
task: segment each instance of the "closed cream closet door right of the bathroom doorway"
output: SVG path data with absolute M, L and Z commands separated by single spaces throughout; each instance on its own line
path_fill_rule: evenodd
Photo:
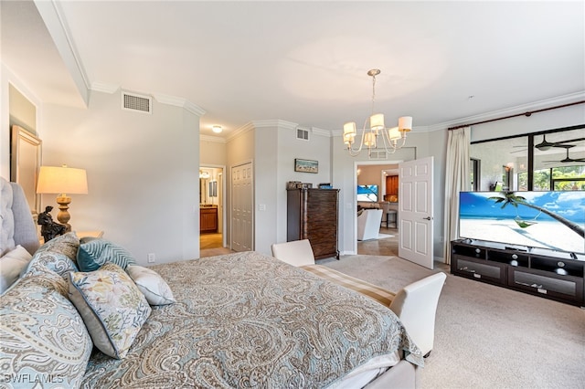
M 251 251 L 253 245 L 252 163 L 231 168 L 231 249 Z

